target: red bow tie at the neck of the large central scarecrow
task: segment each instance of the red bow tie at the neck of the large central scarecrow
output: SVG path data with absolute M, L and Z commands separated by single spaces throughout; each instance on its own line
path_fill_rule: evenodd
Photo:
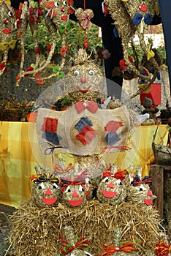
M 96 102 L 76 102 L 75 103 L 75 108 L 77 110 L 77 113 L 80 114 L 83 110 L 87 108 L 88 111 L 91 113 L 96 113 L 98 110 L 98 105 Z

